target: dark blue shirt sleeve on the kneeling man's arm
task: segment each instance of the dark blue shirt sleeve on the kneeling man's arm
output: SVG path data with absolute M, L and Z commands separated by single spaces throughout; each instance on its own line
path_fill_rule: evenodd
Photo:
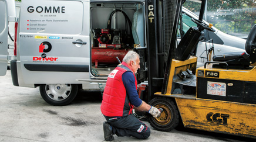
M 139 98 L 137 88 L 135 86 L 135 78 L 132 72 L 126 71 L 122 75 L 123 85 L 126 88 L 126 93 L 130 103 L 136 108 L 142 105 L 142 100 Z

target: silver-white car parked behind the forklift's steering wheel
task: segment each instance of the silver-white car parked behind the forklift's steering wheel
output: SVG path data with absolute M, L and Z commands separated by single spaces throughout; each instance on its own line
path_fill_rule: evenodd
M 198 16 L 194 14 L 193 12 L 189 11 L 186 8 L 183 8 L 182 10 L 182 21 L 183 21 L 183 27 L 182 30 L 180 30 L 180 26 L 178 26 L 178 34 L 177 34 L 177 40 L 180 41 L 181 31 L 183 32 L 183 35 L 187 32 L 187 30 L 192 26 L 197 26 L 196 23 L 194 23 L 191 18 L 198 19 Z M 208 22 L 203 20 L 207 25 L 209 25 Z M 206 63 L 207 61 L 207 53 L 208 49 L 211 47 L 214 47 L 212 57 L 214 55 L 221 55 L 224 53 L 234 53 L 239 52 L 243 53 L 244 46 L 245 46 L 245 39 L 241 39 L 240 37 L 231 36 L 230 34 L 226 34 L 221 32 L 220 30 L 213 27 L 215 32 L 209 32 L 208 30 L 204 30 L 204 37 L 199 41 L 198 47 L 197 47 L 197 67 L 201 67 Z M 211 40 L 212 39 L 212 40 Z M 206 52 L 207 51 L 207 52 Z

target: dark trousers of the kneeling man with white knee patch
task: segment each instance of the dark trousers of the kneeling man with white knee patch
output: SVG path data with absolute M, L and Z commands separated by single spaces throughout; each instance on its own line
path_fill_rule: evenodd
M 150 136 L 150 129 L 143 122 L 137 119 L 133 114 L 114 118 L 105 116 L 107 122 L 112 126 L 113 134 L 119 137 L 136 137 L 146 139 Z

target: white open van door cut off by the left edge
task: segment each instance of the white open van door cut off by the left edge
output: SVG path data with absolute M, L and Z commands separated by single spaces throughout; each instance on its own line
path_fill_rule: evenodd
M 5 75 L 8 59 L 8 19 L 15 16 L 15 1 L 0 0 L 0 75 Z

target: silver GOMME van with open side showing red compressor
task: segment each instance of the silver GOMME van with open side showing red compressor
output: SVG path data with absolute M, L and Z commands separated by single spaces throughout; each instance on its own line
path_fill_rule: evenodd
M 0 37 L 4 39 L 0 44 L 0 53 L 4 53 L 0 55 L 0 75 L 6 72 L 2 67 L 6 67 L 6 25 L 11 17 L 10 12 L 1 13 L 11 9 L 10 3 L 14 2 L 0 0 L 0 16 L 6 19 L 0 21 Z M 51 105 L 69 104 L 78 89 L 102 88 L 107 75 L 119 64 L 116 57 L 122 61 L 134 47 L 146 48 L 150 36 L 147 10 L 153 20 L 153 7 L 146 8 L 142 0 L 22 0 L 15 24 L 13 84 L 39 86 L 42 98 Z M 144 64 L 146 59 L 140 60 Z M 147 65 L 140 67 L 147 74 Z

